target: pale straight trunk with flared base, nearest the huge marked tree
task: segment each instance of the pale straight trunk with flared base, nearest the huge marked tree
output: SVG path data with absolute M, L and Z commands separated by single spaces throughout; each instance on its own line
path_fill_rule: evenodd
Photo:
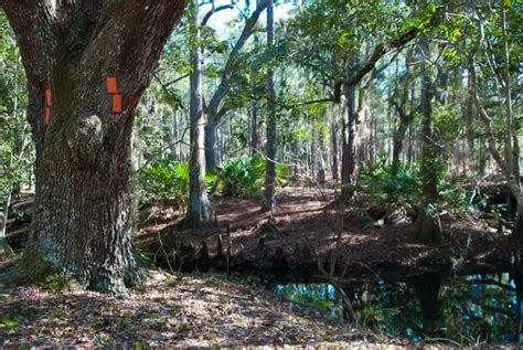
M 200 46 L 200 20 L 196 0 L 191 1 L 191 14 L 194 33 L 191 36 L 191 158 L 189 161 L 189 205 L 183 226 L 200 229 L 211 221 L 211 203 L 205 190 L 205 125 L 202 96 L 202 62 Z M 210 128 L 207 128 L 209 130 Z M 213 130 L 214 134 L 214 130 Z M 213 142 L 214 144 L 214 142 Z M 214 155 L 213 155 L 214 157 Z

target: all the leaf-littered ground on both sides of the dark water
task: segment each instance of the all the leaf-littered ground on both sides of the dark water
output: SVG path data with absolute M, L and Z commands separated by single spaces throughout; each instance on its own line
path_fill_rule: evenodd
M 260 212 L 260 200 L 214 198 L 213 224 L 185 231 L 179 229 L 181 210 L 151 205 L 140 213 L 136 244 L 145 256 L 172 269 L 205 271 L 210 265 L 245 271 L 244 276 L 268 273 L 269 284 L 287 277 L 292 283 L 321 279 L 316 259 L 333 250 L 339 232 L 340 261 L 349 263 L 348 279 L 387 280 L 448 268 L 510 268 L 513 255 L 521 254 L 521 246 L 510 236 L 472 221 L 444 220 L 440 246 L 415 244 L 409 238 L 412 223 L 363 221 L 353 210 L 339 210 L 334 198 L 329 190 L 286 188 L 277 195 L 274 221 Z M 22 213 L 31 205 L 31 199 L 14 205 L 18 219 L 10 225 L 14 245 L 26 236 Z M 228 262 L 225 266 L 217 254 L 218 237 Z M 174 265 L 180 261 L 173 253 L 181 256 L 191 246 L 193 261 Z M 130 289 L 128 298 L 116 299 L 74 288 L 50 289 L 50 283 L 11 287 L 6 271 L 0 266 L 0 348 L 116 343 L 414 347 L 402 339 L 351 328 L 312 306 L 250 285 L 252 279 L 234 273 L 233 277 L 154 273 L 145 286 Z

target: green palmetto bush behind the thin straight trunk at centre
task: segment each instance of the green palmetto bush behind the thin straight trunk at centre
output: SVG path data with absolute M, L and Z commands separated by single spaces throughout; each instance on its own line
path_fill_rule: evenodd
M 228 197 L 262 197 L 265 181 L 266 161 L 262 157 L 231 158 L 224 161 L 217 171 L 221 192 Z M 290 168 L 276 165 L 276 183 L 285 184 Z

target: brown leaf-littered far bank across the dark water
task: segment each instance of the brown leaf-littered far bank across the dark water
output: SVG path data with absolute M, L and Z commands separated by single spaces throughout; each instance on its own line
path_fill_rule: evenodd
M 508 234 L 472 220 L 444 219 L 441 245 L 416 244 L 410 240 L 414 225 L 408 220 L 391 224 L 360 220 L 355 211 L 335 208 L 334 194 L 286 188 L 277 195 L 274 221 L 260 211 L 260 200 L 215 198 L 214 222 L 202 230 L 180 230 L 183 212 L 150 206 L 142 212 L 137 245 L 160 262 L 168 255 L 171 267 L 182 269 L 202 265 L 227 268 L 223 255 L 230 247 L 232 269 L 273 271 L 269 279 L 285 279 L 290 274 L 291 280 L 296 274 L 303 275 L 302 271 L 309 271 L 306 275 L 312 279 L 318 277 L 310 272 L 318 271 L 317 261 L 334 250 L 340 231 L 339 262 L 349 264 L 345 276 L 359 279 L 394 279 L 429 271 L 510 269 L 513 256 L 521 254 L 521 246 Z M 222 262 L 217 258 L 220 245 Z M 178 256 L 185 254 L 182 264 L 172 258 L 173 250 Z

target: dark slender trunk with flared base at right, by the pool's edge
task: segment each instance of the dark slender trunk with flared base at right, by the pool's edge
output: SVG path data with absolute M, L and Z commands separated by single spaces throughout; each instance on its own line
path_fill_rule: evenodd
M 421 50 L 425 56 L 429 56 L 429 45 L 427 36 L 420 39 Z M 423 197 L 424 202 L 419 210 L 414 231 L 414 240 L 426 244 L 439 244 L 441 242 L 441 222 L 434 205 L 438 203 L 437 188 L 437 159 L 438 149 L 433 138 L 433 106 L 431 106 L 431 82 L 430 73 L 426 71 L 426 62 L 421 61 L 421 71 L 425 71 L 421 81 L 421 109 L 423 109 L 423 130 L 421 130 L 421 172 L 423 172 Z

